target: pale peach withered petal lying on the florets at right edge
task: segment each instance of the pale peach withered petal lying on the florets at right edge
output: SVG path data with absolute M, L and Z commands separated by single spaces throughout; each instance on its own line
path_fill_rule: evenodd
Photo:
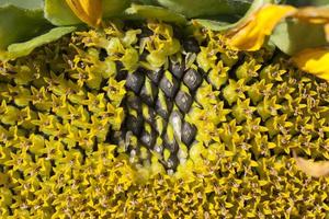
M 296 160 L 296 164 L 300 171 L 306 173 L 307 175 L 314 177 L 328 176 L 329 175 L 329 161 L 318 161 L 314 162 L 310 160 L 305 160 L 299 158 L 294 152 L 294 158 Z

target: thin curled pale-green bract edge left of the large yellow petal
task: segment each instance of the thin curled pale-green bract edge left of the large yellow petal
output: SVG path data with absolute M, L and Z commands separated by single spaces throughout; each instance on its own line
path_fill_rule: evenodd
M 213 30 L 213 31 L 226 31 L 228 28 L 231 28 L 231 27 L 237 26 L 240 23 L 245 22 L 250 16 L 250 14 L 256 12 L 258 9 L 260 9 L 265 3 L 273 3 L 273 0 L 254 0 L 252 3 L 249 3 L 248 10 L 236 22 L 227 22 L 226 18 L 224 18 L 224 19 L 219 18 L 216 20 L 195 19 L 194 21 L 196 23 L 201 24 L 202 26 Z

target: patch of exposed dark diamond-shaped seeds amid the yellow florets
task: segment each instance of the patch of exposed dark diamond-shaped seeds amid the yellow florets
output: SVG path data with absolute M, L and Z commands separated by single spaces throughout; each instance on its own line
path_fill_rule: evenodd
M 126 97 L 127 117 L 123 124 L 123 136 L 132 132 L 138 138 L 138 143 L 159 154 L 164 148 L 168 149 L 171 154 L 164 165 L 175 169 L 179 140 L 190 147 L 196 135 L 195 126 L 185 122 L 184 116 L 202 81 L 203 77 L 197 70 L 185 70 L 179 64 L 171 64 L 168 70 L 138 69 L 129 73 L 126 88 L 132 92 Z M 173 126 L 179 126 L 181 139 L 177 139 Z M 131 147 L 131 153 L 136 153 L 138 146 Z

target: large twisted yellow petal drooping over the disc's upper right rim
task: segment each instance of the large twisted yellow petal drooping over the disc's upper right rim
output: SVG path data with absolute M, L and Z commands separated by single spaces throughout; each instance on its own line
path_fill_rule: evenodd
M 294 12 L 296 9 L 291 5 L 263 5 L 246 22 L 227 34 L 228 44 L 238 50 L 258 50 L 275 25 Z

